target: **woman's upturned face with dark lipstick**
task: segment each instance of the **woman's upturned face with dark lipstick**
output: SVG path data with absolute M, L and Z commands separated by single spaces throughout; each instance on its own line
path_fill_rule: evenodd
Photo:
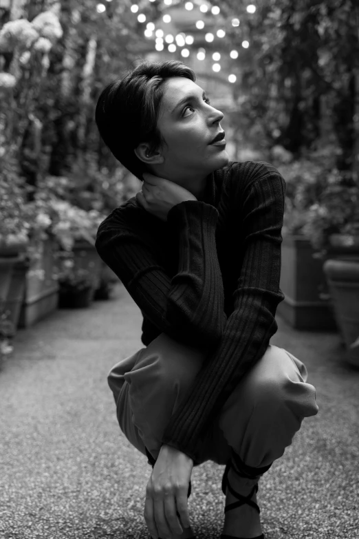
M 171 180 L 208 176 L 227 165 L 226 144 L 210 142 L 223 129 L 224 115 L 209 103 L 203 89 L 185 77 L 165 83 L 157 127 L 166 141 L 160 174 Z M 161 170 L 160 170 L 161 169 Z

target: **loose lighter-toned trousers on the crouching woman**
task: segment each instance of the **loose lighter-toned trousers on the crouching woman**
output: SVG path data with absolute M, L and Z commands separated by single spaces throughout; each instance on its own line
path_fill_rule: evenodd
M 144 455 L 147 448 L 157 458 L 166 425 L 205 357 L 161 333 L 109 372 L 120 428 Z M 269 345 L 199 438 L 197 465 L 208 460 L 226 464 L 232 448 L 250 467 L 265 467 L 281 457 L 303 418 L 318 413 L 316 390 L 307 376 L 299 359 Z

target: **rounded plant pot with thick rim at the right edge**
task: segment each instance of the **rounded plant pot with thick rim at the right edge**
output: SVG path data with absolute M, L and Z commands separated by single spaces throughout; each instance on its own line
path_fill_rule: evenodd
M 336 319 L 345 341 L 346 359 L 359 368 L 359 261 L 326 260 L 323 271 L 327 278 Z

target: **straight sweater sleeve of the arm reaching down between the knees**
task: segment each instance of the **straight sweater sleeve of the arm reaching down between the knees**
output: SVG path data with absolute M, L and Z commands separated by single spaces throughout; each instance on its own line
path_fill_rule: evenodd
M 241 206 L 245 252 L 234 290 L 234 309 L 221 340 L 162 437 L 163 444 L 191 456 L 194 463 L 200 452 L 199 435 L 243 375 L 264 355 L 278 329 L 276 307 L 284 299 L 279 280 L 285 181 L 272 167 L 248 190 Z

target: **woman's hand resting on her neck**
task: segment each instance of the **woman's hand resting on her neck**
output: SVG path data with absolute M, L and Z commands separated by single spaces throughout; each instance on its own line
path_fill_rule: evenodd
M 146 211 L 156 217 L 167 220 L 168 211 L 184 200 L 197 200 L 195 195 L 177 183 L 153 176 L 145 172 L 142 191 L 136 194 L 136 200 Z

